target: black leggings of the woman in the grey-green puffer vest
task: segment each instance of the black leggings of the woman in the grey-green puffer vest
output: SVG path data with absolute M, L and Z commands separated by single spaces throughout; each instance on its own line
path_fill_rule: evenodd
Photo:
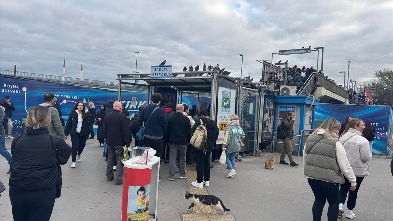
M 312 220 L 321 221 L 323 207 L 327 199 L 329 203 L 327 221 L 337 221 L 340 184 L 310 178 L 307 180 L 315 196 L 315 201 L 312 205 Z

